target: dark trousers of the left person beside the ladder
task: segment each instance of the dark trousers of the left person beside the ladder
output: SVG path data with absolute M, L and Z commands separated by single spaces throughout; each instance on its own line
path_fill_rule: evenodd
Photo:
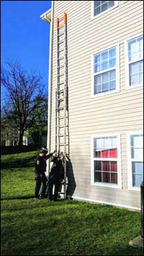
M 41 195 L 42 195 L 42 197 L 45 197 L 45 191 L 47 188 L 47 178 L 45 176 L 45 173 L 42 174 L 41 176 L 39 176 L 38 178 L 36 178 L 36 180 L 35 180 L 35 197 L 38 197 L 41 184 L 42 184 Z

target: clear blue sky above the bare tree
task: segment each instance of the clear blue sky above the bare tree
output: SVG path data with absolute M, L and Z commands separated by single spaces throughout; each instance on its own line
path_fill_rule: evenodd
M 18 60 L 48 81 L 50 25 L 40 15 L 51 1 L 1 1 L 1 65 Z M 3 94 L 1 95 L 3 100 Z

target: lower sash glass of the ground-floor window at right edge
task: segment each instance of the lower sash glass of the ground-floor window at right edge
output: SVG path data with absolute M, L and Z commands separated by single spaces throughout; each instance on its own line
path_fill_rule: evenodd
M 133 187 L 140 187 L 143 181 L 143 162 L 132 162 Z

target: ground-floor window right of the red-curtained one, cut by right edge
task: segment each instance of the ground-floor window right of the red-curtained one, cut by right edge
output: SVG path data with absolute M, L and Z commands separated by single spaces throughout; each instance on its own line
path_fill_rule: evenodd
M 143 134 L 130 134 L 130 188 L 140 188 L 143 181 Z

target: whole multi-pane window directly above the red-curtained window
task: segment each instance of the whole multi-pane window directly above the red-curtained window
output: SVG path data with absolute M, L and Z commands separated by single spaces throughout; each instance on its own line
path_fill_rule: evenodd
M 93 94 L 111 93 L 117 86 L 117 47 L 93 55 Z

